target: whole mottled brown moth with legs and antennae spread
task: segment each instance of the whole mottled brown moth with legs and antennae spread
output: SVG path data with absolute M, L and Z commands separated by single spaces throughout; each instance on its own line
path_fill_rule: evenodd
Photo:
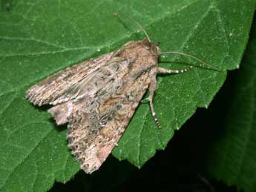
M 135 20 L 134 20 L 135 21 Z M 57 125 L 68 123 L 68 147 L 82 170 L 99 169 L 119 142 L 146 90 L 154 121 L 160 128 L 153 98 L 157 74 L 177 74 L 191 70 L 158 67 L 163 54 L 145 33 L 141 41 L 131 41 L 119 50 L 68 67 L 30 87 L 26 98 L 33 105 L 53 105 L 48 112 Z

